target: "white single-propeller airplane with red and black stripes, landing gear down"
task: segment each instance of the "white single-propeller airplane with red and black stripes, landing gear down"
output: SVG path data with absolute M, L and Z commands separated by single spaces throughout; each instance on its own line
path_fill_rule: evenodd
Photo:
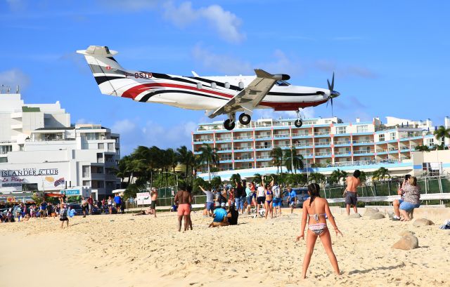
M 236 125 L 236 112 L 240 124 L 248 125 L 255 109 L 295 111 L 294 124 L 303 124 L 300 109 L 328 102 L 333 109 L 335 75 L 328 81 L 328 89 L 294 86 L 287 74 L 270 74 L 255 69 L 256 76 L 175 76 L 156 72 L 124 69 L 113 58 L 117 51 L 108 46 L 89 46 L 77 53 L 84 55 L 94 78 L 105 95 L 130 98 L 138 102 L 153 102 L 184 109 L 205 109 L 210 119 L 226 114 L 226 130 Z

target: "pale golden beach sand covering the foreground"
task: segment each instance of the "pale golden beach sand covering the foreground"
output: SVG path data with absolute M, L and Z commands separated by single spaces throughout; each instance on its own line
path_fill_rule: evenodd
M 295 242 L 296 212 L 274 220 L 244 217 L 220 228 L 207 228 L 210 219 L 198 212 L 189 232 L 176 232 L 174 213 L 78 216 L 69 229 L 54 218 L 0 224 L 0 286 L 42 279 L 65 287 L 450 286 L 450 232 L 438 229 L 444 217 L 413 227 L 335 211 L 344 234 L 332 234 L 342 274 L 333 274 L 318 240 L 302 280 L 305 242 Z M 420 248 L 391 248 L 403 230 L 416 233 Z

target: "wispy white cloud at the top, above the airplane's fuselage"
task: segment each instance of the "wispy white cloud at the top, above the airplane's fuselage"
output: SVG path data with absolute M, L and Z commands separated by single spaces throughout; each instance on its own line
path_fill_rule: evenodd
M 219 5 L 195 9 L 189 1 L 181 3 L 178 7 L 169 1 L 163 7 L 165 18 L 178 27 L 186 27 L 195 21 L 206 20 L 225 41 L 239 43 L 245 39 L 245 34 L 239 31 L 242 20 Z

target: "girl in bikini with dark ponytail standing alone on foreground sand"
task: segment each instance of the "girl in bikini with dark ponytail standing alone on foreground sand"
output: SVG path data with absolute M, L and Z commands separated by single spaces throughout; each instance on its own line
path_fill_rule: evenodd
M 309 218 L 309 220 L 307 231 L 307 251 L 304 253 L 302 278 L 306 278 L 307 269 L 309 262 L 311 261 L 311 255 L 314 251 L 314 245 L 316 244 L 318 236 L 321 238 L 323 248 L 330 259 L 333 269 L 335 269 L 335 273 L 338 275 L 340 274 L 338 260 L 336 260 L 335 253 L 333 253 L 333 248 L 331 247 L 330 231 L 326 226 L 327 215 L 331 225 L 333 225 L 333 228 L 335 229 L 336 235 L 342 235 L 342 233 L 336 226 L 335 218 L 331 214 L 330 207 L 328 206 L 328 201 L 326 201 L 326 199 L 322 199 L 319 192 L 320 187 L 318 184 L 311 183 L 308 185 L 308 194 L 310 197 L 303 203 L 302 229 L 301 234 L 297 236 L 297 241 L 304 239 L 304 227 L 307 225 L 307 218 Z

